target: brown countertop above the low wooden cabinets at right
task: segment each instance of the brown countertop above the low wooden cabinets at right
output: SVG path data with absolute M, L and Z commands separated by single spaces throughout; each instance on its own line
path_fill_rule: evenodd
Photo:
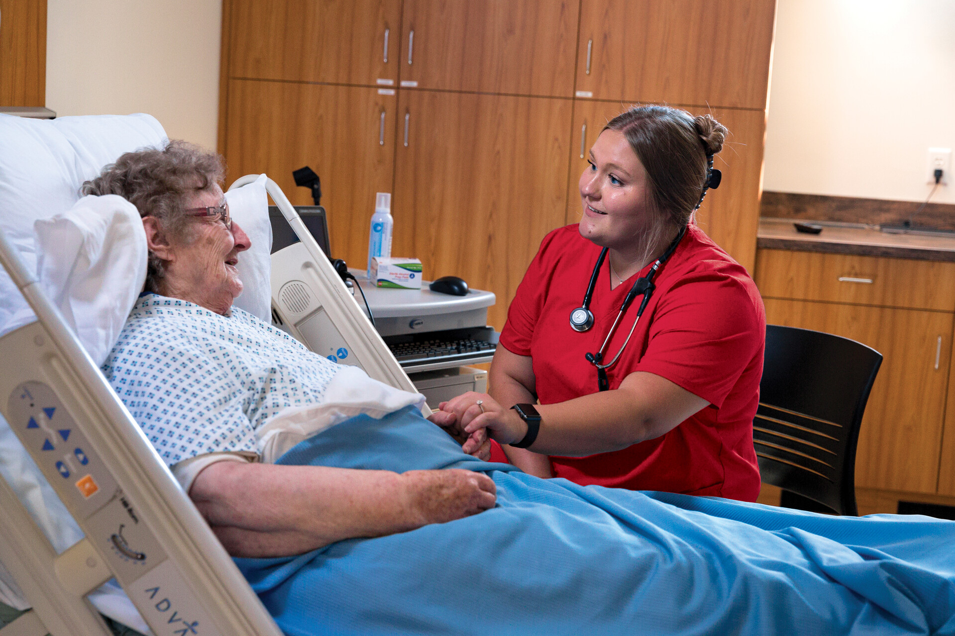
M 819 234 L 796 232 L 799 219 L 760 217 L 756 246 L 804 252 L 891 256 L 922 261 L 955 262 L 955 233 L 951 235 L 890 234 L 876 226 L 854 223 L 819 223 Z

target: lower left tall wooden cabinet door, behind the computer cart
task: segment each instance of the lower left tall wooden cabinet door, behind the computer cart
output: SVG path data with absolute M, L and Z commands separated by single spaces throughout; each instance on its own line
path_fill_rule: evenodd
M 354 86 L 230 84 L 228 180 L 265 172 L 293 204 L 311 205 L 308 188 L 292 179 L 310 166 L 322 180 L 331 253 L 364 267 L 374 193 L 392 191 L 397 97 Z

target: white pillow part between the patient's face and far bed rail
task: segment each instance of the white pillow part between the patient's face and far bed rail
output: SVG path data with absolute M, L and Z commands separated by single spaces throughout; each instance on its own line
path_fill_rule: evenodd
M 268 220 L 268 195 L 265 181 L 259 179 L 225 193 L 232 221 L 239 223 L 251 241 L 251 246 L 239 254 L 239 278 L 243 292 L 233 305 L 258 316 L 266 323 L 272 321 L 271 272 L 272 223 Z

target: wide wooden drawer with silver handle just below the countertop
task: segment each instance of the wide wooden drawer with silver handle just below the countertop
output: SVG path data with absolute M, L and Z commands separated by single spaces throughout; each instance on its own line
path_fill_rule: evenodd
M 766 298 L 955 310 L 955 263 L 760 249 L 755 280 Z

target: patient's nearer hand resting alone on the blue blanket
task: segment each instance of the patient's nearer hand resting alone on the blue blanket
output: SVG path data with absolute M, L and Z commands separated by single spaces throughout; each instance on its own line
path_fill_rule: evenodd
M 477 515 L 498 499 L 494 480 L 483 473 L 449 468 L 409 471 L 401 478 L 415 527 Z

